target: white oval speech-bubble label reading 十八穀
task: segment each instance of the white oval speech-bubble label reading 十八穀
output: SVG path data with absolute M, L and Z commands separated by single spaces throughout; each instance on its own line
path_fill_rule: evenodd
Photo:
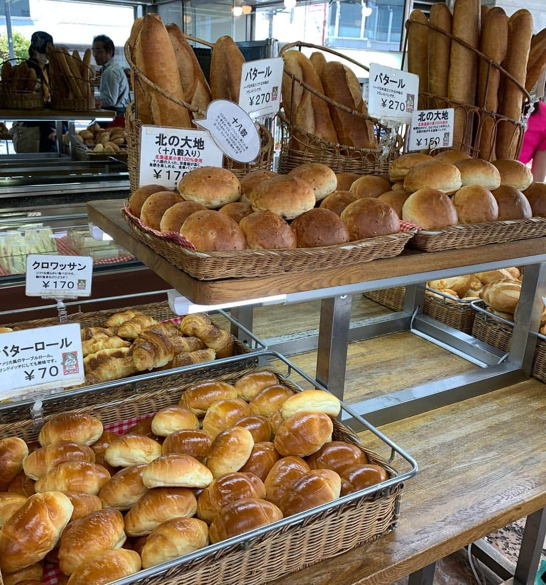
M 255 123 L 241 106 L 228 99 L 214 99 L 202 120 L 195 120 L 206 128 L 218 148 L 238 163 L 250 163 L 260 153 L 260 136 Z

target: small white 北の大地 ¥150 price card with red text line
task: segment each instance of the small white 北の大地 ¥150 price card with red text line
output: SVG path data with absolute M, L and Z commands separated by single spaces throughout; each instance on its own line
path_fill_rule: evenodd
M 454 108 L 415 110 L 411 119 L 408 150 L 453 146 Z

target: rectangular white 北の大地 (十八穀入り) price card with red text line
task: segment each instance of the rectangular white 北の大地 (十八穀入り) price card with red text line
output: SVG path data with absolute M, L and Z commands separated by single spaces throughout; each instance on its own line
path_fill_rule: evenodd
M 206 130 L 142 126 L 139 184 L 176 189 L 180 179 L 199 167 L 221 167 L 223 155 Z

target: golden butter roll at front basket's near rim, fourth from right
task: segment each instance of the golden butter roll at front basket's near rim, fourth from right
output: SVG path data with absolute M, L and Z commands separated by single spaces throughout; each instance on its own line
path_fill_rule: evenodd
M 197 518 L 173 518 L 155 528 L 142 548 L 142 568 L 187 555 L 208 545 L 208 526 Z

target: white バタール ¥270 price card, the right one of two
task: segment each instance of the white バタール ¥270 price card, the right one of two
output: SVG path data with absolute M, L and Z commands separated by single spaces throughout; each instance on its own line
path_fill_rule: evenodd
M 407 71 L 370 63 L 370 116 L 409 124 L 419 95 L 419 77 Z

